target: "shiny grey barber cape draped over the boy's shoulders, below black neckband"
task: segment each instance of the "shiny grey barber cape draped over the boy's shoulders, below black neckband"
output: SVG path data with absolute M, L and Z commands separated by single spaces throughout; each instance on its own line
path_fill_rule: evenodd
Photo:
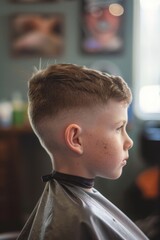
M 96 189 L 46 184 L 18 240 L 145 240 L 136 225 Z

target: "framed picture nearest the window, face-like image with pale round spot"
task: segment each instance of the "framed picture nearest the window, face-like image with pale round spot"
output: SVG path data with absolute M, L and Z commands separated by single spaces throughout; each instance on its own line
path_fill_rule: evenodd
M 121 51 L 124 14 L 124 0 L 82 0 L 82 51 L 90 54 Z

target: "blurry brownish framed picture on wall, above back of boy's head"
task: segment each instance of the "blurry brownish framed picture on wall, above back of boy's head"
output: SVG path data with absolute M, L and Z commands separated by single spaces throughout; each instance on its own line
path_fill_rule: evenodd
M 24 13 L 10 19 L 13 56 L 55 57 L 64 51 L 64 17 Z

